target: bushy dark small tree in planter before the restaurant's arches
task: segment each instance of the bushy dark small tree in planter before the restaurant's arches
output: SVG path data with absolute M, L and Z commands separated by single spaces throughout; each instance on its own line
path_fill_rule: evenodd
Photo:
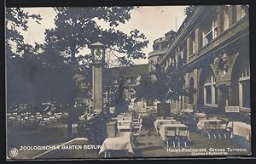
M 154 71 L 143 74 L 136 94 L 139 99 L 157 99 L 165 103 L 169 99 L 177 100 L 179 96 L 188 96 L 195 93 L 194 88 L 185 87 L 185 79 L 182 71 L 172 65 L 164 71 L 160 65 L 153 64 Z

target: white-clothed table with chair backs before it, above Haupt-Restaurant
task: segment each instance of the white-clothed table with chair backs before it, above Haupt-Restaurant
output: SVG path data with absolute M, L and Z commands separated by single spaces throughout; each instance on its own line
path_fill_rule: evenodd
M 189 137 L 189 130 L 187 129 L 185 133 L 179 133 L 179 129 L 180 127 L 186 127 L 188 128 L 185 124 L 164 124 L 160 127 L 159 133 L 160 133 L 160 138 L 162 140 L 166 140 L 167 137 L 173 137 L 172 136 L 168 136 L 168 133 L 166 133 L 167 131 L 167 127 L 175 127 L 176 128 L 176 132 L 175 132 L 175 136 L 183 136 L 183 137 L 187 137 L 187 139 L 189 139 L 190 141 L 190 137 Z M 185 136 L 184 136 L 185 135 Z

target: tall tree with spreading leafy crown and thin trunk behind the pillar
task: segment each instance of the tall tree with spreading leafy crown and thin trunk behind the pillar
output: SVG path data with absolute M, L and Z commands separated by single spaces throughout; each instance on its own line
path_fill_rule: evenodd
M 117 28 L 119 24 L 131 19 L 130 12 L 133 8 L 135 7 L 54 8 L 55 28 L 45 31 L 45 46 L 55 48 L 55 54 L 65 57 L 72 75 L 79 63 L 77 55 L 82 48 L 94 42 L 102 42 L 107 48 L 125 54 L 125 59 L 120 57 L 124 65 L 130 63 L 131 59 L 145 58 L 143 48 L 147 47 L 148 40 L 143 33 L 135 29 L 126 34 Z M 97 25 L 97 20 L 103 20 L 108 28 Z M 88 62 L 86 59 L 84 61 Z M 75 94 L 70 92 L 69 95 L 71 99 L 67 131 L 70 136 Z

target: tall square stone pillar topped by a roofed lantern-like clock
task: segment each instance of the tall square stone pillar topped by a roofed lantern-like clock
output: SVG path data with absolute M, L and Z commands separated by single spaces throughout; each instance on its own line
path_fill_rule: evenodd
M 102 68 L 105 62 L 105 46 L 101 42 L 90 45 L 92 55 L 93 108 L 97 113 L 103 109 Z

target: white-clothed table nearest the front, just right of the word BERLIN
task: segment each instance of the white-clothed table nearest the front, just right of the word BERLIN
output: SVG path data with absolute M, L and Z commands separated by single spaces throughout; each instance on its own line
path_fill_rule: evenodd
M 131 132 L 120 132 L 117 137 L 104 140 L 99 154 L 105 152 L 105 157 L 110 157 L 110 151 L 108 150 L 128 150 L 129 153 L 134 154 L 133 148 L 135 146 Z

